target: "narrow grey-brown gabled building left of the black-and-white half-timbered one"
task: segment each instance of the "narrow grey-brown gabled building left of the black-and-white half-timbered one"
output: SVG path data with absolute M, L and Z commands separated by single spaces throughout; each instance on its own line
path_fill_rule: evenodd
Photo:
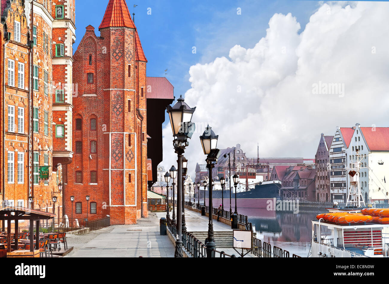
M 324 136 L 321 134 L 319 146 L 315 155 L 316 168 L 316 201 L 329 202 L 329 149 L 334 136 Z

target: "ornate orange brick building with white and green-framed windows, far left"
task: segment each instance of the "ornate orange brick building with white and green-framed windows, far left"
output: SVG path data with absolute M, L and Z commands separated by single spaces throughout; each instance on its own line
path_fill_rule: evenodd
M 0 195 L 8 205 L 53 212 L 59 220 L 65 208 L 58 185 L 72 162 L 75 0 L 1 0 L 0 14 Z M 49 167 L 48 179 L 40 179 L 40 166 Z

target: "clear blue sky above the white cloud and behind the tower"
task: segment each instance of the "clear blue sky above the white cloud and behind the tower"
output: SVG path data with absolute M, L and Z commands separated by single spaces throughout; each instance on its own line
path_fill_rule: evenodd
M 108 0 L 76 1 L 76 49 L 85 27 L 91 24 L 99 35 Z M 126 0 L 133 13 L 142 47 L 148 60 L 147 76 L 166 77 L 178 98 L 190 89 L 189 68 L 228 56 L 236 44 L 252 48 L 265 36 L 275 13 L 292 13 L 301 24 L 319 7 L 317 1 L 173 1 Z M 98 3 L 98 5 L 96 5 Z M 151 15 L 147 14 L 151 8 Z M 237 9 L 241 14 L 237 14 Z M 196 54 L 192 53 L 196 47 Z M 165 75 L 165 69 L 168 69 Z M 165 124 L 167 121 L 165 121 Z

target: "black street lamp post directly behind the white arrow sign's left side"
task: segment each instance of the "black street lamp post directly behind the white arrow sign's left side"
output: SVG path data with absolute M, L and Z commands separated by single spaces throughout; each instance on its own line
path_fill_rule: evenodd
M 207 168 L 209 171 L 209 193 L 208 193 L 208 199 L 209 199 L 209 222 L 208 222 L 208 238 L 206 242 L 207 247 L 207 257 L 212 257 L 212 251 L 216 249 L 216 244 L 214 240 L 214 227 L 212 223 L 212 169 L 215 167 L 215 164 L 217 164 L 217 157 L 219 155 L 220 150 L 216 148 L 217 146 L 217 139 L 219 138 L 218 135 L 215 134 L 214 131 L 212 131 L 211 127 L 209 125 L 205 128 L 205 131 L 202 136 L 200 136 L 200 141 L 203 147 L 203 152 L 205 155 L 207 155 Z

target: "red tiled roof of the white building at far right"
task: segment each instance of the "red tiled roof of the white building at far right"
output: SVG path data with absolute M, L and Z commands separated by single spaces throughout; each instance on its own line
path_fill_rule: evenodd
M 361 127 L 370 151 L 389 151 L 389 127 Z

